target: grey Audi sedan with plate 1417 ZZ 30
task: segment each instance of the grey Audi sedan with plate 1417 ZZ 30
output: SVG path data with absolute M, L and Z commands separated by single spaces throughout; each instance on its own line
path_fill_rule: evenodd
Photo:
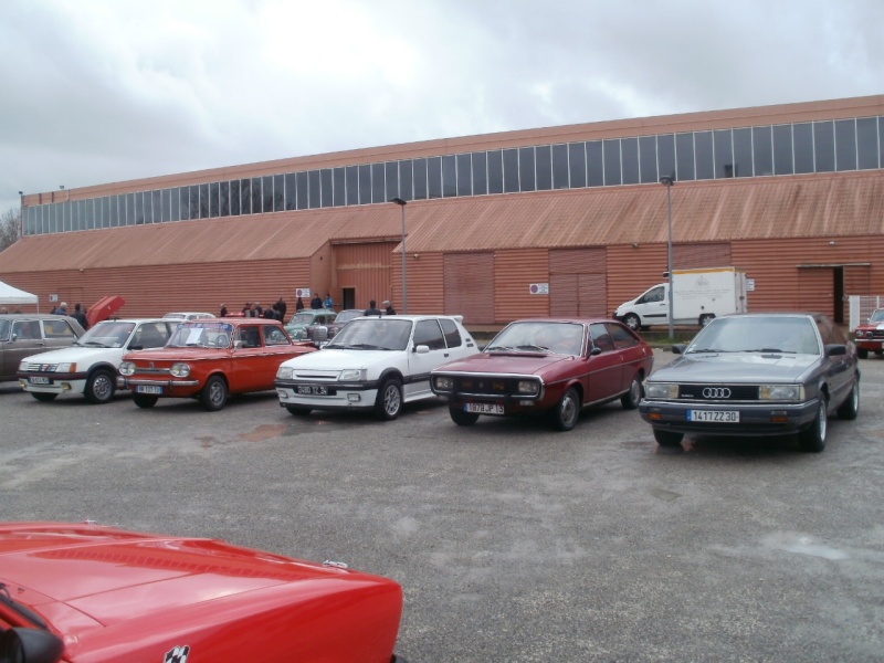
M 828 418 L 860 409 L 856 348 L 820 314 L 759 313 L 712 320 L 648 380 L 639 411 L 663 446 L 695 435 L 798 433 L 825 448 Z

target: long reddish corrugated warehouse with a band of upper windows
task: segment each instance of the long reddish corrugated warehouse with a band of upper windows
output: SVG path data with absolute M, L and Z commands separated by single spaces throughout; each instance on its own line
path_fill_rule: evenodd
M 296 157 L 27 193 L 0 280 L 44 309 L 301 291 L 495 326 L 610 315 L 663 281 L 671 230 L 673 267 L 744 270 L 750 309 L 846 322 L 884 293 L 883 166 L 884 95 Z

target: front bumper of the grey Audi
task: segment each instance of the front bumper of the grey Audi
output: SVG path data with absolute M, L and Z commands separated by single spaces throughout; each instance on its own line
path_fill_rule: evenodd
M 802 403 L 673 403 L 643 400 L 639 404 L 642 419 L 659 430 L 708 435 L 782 435 L 798 432 L 815 420 L 817 402 Z M 717 423 L 688 420 L 690 411 L 737 412 L 739 421 Z

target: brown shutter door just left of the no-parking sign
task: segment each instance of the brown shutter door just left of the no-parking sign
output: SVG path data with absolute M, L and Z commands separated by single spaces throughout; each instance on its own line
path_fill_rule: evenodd
M 463 315 L 467 326 L 493 325 L 494 267 L 491 252 L 445 255 L 445 311 Z

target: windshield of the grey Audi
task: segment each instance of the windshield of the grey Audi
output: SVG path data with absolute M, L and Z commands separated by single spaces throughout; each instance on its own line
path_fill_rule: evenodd
M 819 355 L 820 343 L 808 317 L 723 317 L 704 327 L 685 352 Z

